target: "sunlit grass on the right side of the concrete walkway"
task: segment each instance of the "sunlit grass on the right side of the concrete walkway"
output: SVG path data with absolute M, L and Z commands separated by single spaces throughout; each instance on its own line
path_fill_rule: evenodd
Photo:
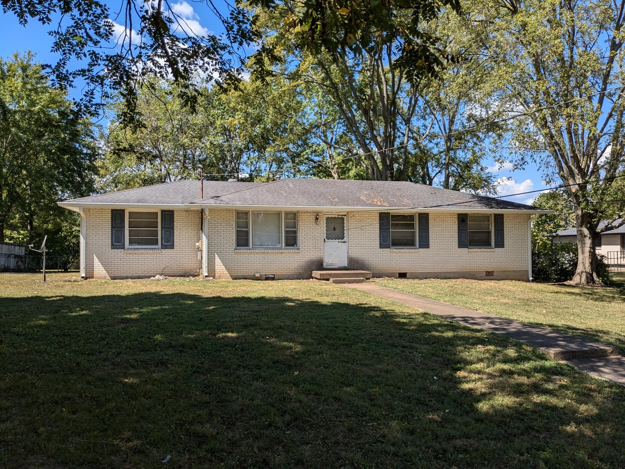
M 432 300 L 616 345 L 625 353 L 625 273 L 611 288 L 483 280 L 376 280 Z

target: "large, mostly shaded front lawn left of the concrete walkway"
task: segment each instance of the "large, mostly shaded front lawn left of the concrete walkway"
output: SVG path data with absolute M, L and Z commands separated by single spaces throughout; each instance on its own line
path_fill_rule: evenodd
M 0 275 L 0 467 L 625 465 L 625 388 L 521 343 L 319 281 L 67 277 Z

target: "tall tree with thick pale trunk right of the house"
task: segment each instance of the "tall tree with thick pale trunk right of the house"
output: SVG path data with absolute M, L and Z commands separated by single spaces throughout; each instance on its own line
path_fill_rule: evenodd
M 509 115 L 521 159 L 558 179 L 574 207 L 578 264 L 573 283 L 599 284 L 594 249 L 607 209 L 622 199 L 624 169 L 623 32 L 625 1 L 508 0 L 473 12 L 489 23 L 489 53 L 502 58 L 492 79 Z M 618 205 L 617 205 L 618 206 Z M 624 224 L 621 221 L 618 224 Z M 618 224 L 612 223 L 611 226 Z

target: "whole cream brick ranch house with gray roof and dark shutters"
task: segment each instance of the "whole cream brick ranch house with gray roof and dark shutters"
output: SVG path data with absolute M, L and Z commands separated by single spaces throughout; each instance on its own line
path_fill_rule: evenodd
M 529 280 L 534 206 L 422 184 L 176 181 L 59 202 L 81 214 L 81 276 Z

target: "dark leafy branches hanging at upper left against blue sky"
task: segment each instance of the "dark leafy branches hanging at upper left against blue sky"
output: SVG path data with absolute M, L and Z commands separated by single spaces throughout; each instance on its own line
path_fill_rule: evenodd
M 60 58 L 47 68 L 59 88 L 84 83 L 76 111 L 102 111 L 119 93 L 126 107 L 117 118 L 140 124 L 135 105 L 147 78 L 173 78 L 180 98 L 194 108 L 200 95 L 197 76 L 216 74 L 220 83 L 236 83 L 244 62 L 239 51 L 255 39 L 249 11 L 242 6 L 222 4 L 221 11 L 211 6 L 227 31 L 224 36 L 195 34 L 172 4 L 128 0 L 111 9 L 99 0 L 7 0 L 2 10 L 25 26 L 32 20 L 52 24 L 50 48 Z

